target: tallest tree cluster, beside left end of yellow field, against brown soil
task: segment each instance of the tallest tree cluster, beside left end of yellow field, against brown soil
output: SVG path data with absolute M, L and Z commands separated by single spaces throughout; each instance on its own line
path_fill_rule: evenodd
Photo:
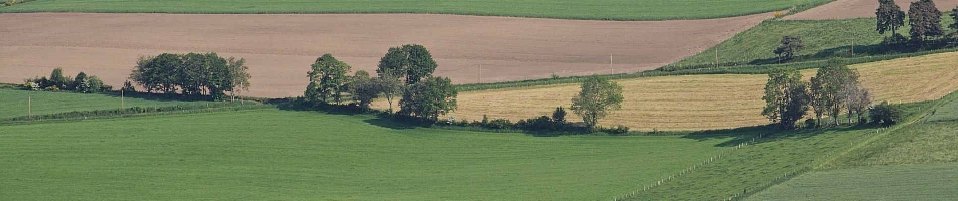
M 348 93 L 357 106 L 368 110 L 381 96 L 393 111 L 395 98 L 401 96 L 398 114 L 432 120 L 456 109 L 458 91 L 449 78 L 432 75 L 436 62 L 421 45 L 390 48 L 380 59 L 375 78 L 364 70 L 349 75 L 351 69 L 329 53 L 317 58 L 308 72 L 306 101 L 331 104 L 331 98 L 339 105 Z

